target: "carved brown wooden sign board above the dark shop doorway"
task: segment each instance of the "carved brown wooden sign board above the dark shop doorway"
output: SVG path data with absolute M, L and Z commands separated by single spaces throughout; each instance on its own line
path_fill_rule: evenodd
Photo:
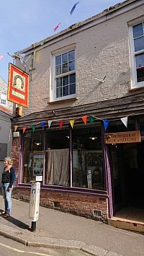
M 137 143 L 140 141 L 140 131 L 104 133 L 104 144 Z

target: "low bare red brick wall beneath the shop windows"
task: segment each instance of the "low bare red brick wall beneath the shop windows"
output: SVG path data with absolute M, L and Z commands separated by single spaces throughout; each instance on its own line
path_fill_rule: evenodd
M 30 189 L 14 187 L 12 197 L 29 202 Z M 40 206 L 55 208 L 66 213 L 73 213 L 89 219 L 107 223 L 108 207 L 107 198 L 97 195 L 84 195 L 82 193 L 69 193 L 48 190 L 40 192 Z M 98 213 L 98 216 L 94 216 Z

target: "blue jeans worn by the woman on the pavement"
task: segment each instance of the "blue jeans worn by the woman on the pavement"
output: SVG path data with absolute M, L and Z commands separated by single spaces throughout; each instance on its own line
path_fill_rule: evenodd
M 9 183 L 1 184 L 2 194 L 4 198 L 4 205 L 6 213 L 11 213 L 12 211 L 12 190 L 9 190 Z

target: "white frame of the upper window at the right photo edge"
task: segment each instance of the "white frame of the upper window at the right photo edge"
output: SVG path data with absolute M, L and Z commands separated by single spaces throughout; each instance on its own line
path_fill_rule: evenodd
M 130 68 L 131 68 L 131 89 L 140 89 L 140 87 L 144 87 L 144 81 L 137 81 L 137 69 L 136 69 L 136 61 L 135 61 L 135 56 L 144 53 L 144 48 L 143 50 L 139 50 L 135 52 L 135 47 L 134 47 L 134 39 L 133 39 L 133 32 L 132 32 L 132 27 L 135 25 L 138 25 L 140 23 L 144 24 L 144 17 L 140 17 L 140 19 L 137 19 L 137 21 L 132 21 L 129 22 L 129 35 L 130 35 Z

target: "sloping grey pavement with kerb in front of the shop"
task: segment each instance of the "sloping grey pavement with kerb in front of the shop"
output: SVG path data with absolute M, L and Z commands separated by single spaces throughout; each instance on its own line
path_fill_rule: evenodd
M 4 199 L 0 195 L 0 211 Z M 0 216 L 0 235 L 33 247 L 71 248 L 95 256 L 142 256 L 144 235 L 117 229 L 101 221 L 86 219 L 40 206 L 36 231 L 29 220 L 29 203 L 12 198 L 12 214 Z

